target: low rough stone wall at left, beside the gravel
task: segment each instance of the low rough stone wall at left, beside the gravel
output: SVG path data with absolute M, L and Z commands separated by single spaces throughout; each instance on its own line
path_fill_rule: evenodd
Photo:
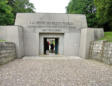
M 0 64 L 7 63 L 15 58 L 15 44 L 11 42 L 0 42 Z

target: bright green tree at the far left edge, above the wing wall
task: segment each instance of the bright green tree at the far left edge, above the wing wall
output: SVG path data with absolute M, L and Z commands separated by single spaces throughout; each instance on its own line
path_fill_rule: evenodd
M 12 8 L 7 0 L 0 0 L 0 25 L 11 25 L 14 22 Z

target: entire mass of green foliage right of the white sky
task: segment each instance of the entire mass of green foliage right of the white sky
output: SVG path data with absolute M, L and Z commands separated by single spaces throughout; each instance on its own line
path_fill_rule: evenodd
M 85 14 L 89 27 L 112 31 L 112 0 L 71 0 L 67 13 Z

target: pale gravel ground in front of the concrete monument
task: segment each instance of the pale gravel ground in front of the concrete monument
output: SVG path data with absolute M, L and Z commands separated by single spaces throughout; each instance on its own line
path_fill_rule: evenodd
M 0 66 L 0 86 L 112 86 L 112 66 L 84 59 L 17 59 Z

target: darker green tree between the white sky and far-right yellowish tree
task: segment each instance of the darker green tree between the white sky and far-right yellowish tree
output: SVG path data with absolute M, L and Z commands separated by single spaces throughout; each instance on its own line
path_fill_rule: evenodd
M 85 14 L 89 27 L 96 27 L 96 8 L 93 0 L 71 0 L 67 6 L 67 13 Z

